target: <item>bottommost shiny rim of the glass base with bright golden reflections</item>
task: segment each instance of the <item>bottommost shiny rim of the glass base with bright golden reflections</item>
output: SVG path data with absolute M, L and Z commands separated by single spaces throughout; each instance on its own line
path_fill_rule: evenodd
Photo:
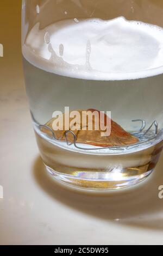
M 56 172 L 51 167 L 46 166 L 48 173 L 51 174 L 55 180 L 63 182 L 66 185 L 89 190 L 119 190 L 139 184 L 139 182 L 145 180 L 153 172 L 152 169 L 143 173 L 145 168 L 146 166 L 121 169 L 121 173 L 74 170 L 73 172 L 71 171 L 70 175 Z

